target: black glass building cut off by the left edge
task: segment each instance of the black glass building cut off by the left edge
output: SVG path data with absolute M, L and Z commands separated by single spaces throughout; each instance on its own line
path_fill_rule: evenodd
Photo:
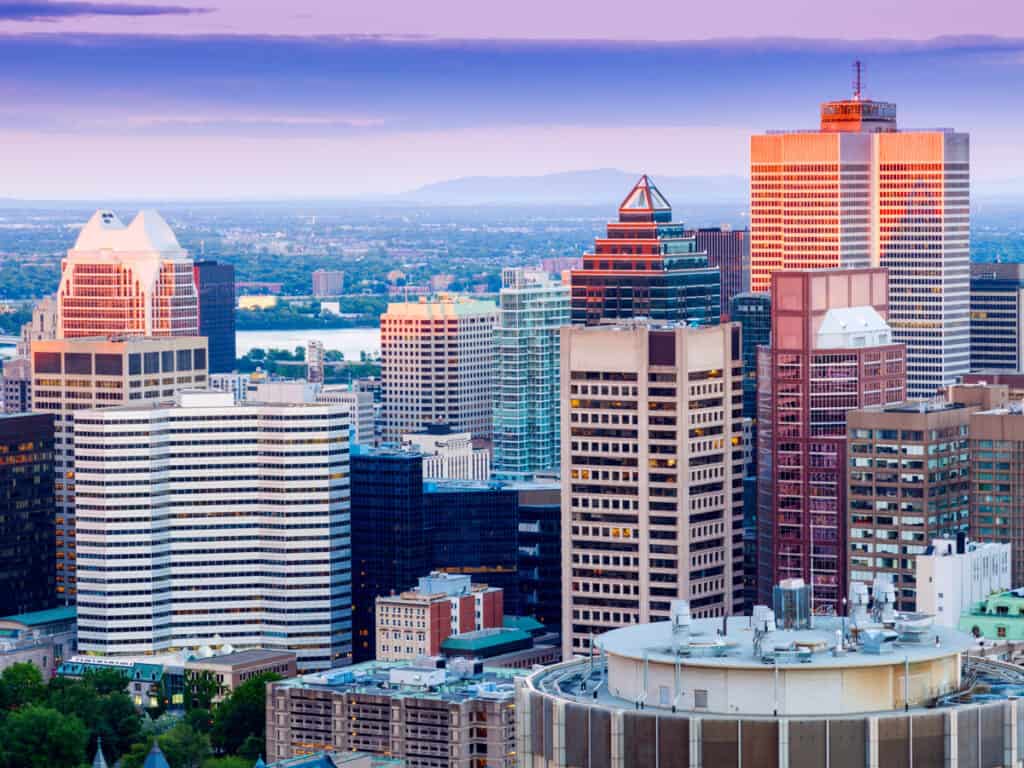
M 0 615 L 53 604 L 53 467 L 51 414 L 0 415 Z

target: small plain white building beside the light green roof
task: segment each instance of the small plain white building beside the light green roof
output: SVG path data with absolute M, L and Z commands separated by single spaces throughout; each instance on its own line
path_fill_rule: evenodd
M 934 540 L 916 557 L 916 609 L 943 627 L 957 627 L 975 603 L 1010 589 L 1010 562 L 1009 544 L 978 544 L 964 535 Z

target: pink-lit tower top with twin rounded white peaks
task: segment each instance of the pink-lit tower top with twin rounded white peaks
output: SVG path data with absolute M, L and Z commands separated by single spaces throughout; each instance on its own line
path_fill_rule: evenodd
M 56 301 L 58 339 L 200 335 L 191 259 L 156 211 L 127 226 L 92 214 L 60 264 Z

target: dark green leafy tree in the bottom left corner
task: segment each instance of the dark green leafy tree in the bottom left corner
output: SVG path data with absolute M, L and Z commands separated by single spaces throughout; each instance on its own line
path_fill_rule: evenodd
M 48 707 L 29 706 L 0 724 L 3 768 L 78 768 L 89 732 L 82 721 Z

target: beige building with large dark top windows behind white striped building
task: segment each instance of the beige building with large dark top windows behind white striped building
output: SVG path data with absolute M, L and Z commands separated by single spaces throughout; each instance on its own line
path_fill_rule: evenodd
M 207 383 L 202 337 L 113 337 L 36 341 L 33 408 L 53 414 L 56 594 L 75 599 L 75 413 L 172 397 Z

